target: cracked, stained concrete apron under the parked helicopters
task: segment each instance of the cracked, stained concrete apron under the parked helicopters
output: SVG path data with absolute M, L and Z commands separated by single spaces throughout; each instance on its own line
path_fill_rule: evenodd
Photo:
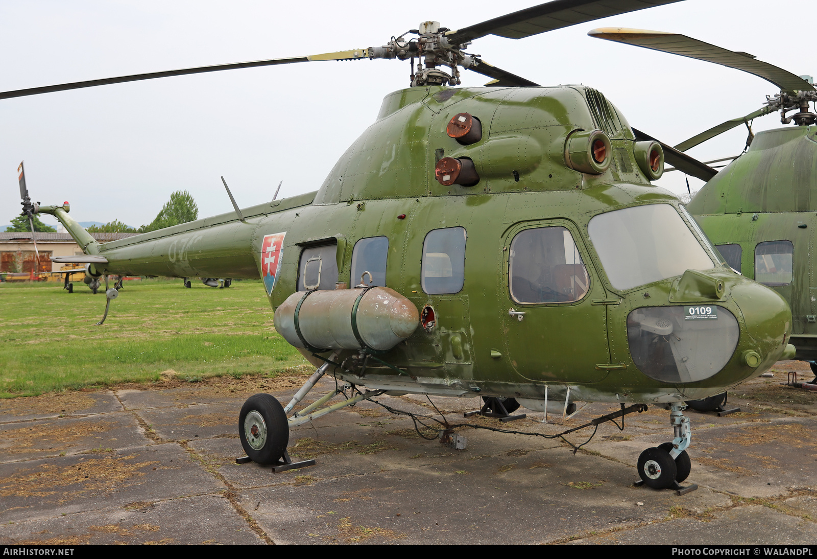
M 739 387 L 740 414 L 689 413 L 684 485 L 700 489 L 680 497 L 632 485 L 641 451 L 672 438 L 663 409 L 628 415 L 623 432 L 602 425 L 574 455 L 558 440 L 475 429 L 460 431 L 467 449 L 449 449 L 364 402 L 294 429 L 292 458 L 317 465 L 275 474 L 234 463 L 239 409 L 261 391 L 285 404 L 306 377 L 3 400 L 0 543 L 809 543 L 817 393 L 779 387 L 803 365 Z M 425 398 L 380 400 L 435 414 Z M 464 420 L 479 400 L 432 400 L 452 423 L 565 428 L 531 412 Z M 589 405 L 568 427 L 614 409 Z

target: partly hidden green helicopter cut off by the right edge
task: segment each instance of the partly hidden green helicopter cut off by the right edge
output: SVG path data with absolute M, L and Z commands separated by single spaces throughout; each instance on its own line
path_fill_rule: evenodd
M 734 127 L 748 127 L 744 152 L 704 178 L 707 184 L 686 207 L 729 266 L 785 297 L 792 308 L 795 358 L 808 361 L 817 374 L 817 114 L 809 106 L 817 101 L 814 78 L 685 35 L 623 28 L 590 35 L 740 69 L 779 87 L 761 109 L 675 148 L 689 150 Z M 752 133 L 753 119 L 776 111 L 781 123 L 795 126 Z

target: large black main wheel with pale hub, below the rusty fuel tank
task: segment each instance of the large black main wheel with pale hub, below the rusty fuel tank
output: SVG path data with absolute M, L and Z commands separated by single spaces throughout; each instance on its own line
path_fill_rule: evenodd
M 252 462 L 279 462 L 289 444 L 287 414 L 280 402 L 269 394 L 250 396 L 241 406 L 239 437 Z

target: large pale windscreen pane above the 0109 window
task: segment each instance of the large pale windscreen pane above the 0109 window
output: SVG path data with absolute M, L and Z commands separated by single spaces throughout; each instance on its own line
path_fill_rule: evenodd
M 587 233 L 616 289 L 715 266 L 690 225 L 667 203 L 600 213 L 587 224 Z

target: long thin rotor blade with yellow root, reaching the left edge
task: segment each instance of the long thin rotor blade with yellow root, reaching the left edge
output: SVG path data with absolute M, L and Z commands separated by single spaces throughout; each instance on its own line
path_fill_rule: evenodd
M 38 95 L 39 93 L 64 92 L 69 89 L 95 87 L 100 85 L 108 85 L 109 83 L 138 82 L 143 79 L 167 78 L 169 76 L 184 76 L 186 74 L 203 74 L 205 72 L 219 72 L 225 69 L 257 68 L 259 66 L 275 66 L 279 64 L 315 62 L 319 60 L 361 60 L 364 58 L 368 58 L 368 48 L 360 48 L 352 51 L 327 52 L 325 54 L 312 56 L 292 56 L 290 58 L 272 58 L 270 60 L 253 60 L 250 62 L 238 62 L 235 64 L 199 66 L 197 68 L 183 68 L 167 70 L 165 72 L 150 72 L 148 74 L 132 74 L 130 76 L 119 76 L 118 78 L 91 79 L 86 82 L 60 83 L 58 85 L 46 87 L 30 87 L 29 89 L 18 89 L 13 92 L 0 92 L 0 99 Z

